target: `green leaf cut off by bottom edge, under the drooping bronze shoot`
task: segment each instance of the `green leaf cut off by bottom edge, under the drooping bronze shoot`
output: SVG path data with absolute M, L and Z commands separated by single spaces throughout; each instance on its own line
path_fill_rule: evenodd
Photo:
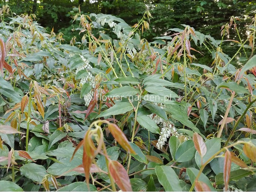
M 97 191 L 97 188 L 93 184 L 89 184 L 89 190 L 85 182 L 74 182 L 67 186 L 64 186 L 57 191 Z

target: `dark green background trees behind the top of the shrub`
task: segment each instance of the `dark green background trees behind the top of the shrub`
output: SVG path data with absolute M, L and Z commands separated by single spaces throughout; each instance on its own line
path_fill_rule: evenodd
M 8 4 L 16 14 L 32 14 L 48 31 L 62 32 L 63 38 L 70 42 L 75 36 L 82 36 L 76 30 L 78 23 L 72 23 L 71 16 L 78 12 L 84 14 L 104 13 L 120 17 L 129 25 L 137 23 L 146 10 L 151 12 L 150 30 L 143 33 L 144 38 L 152 40 L 161 35 L 171 34 L 168 29 L 184 28 L 182 24 L 194 27 L 197 31 L 221 39 L 221 27 L 229 22 L 231 16 L 238 17 L 238 28 L 242 40 L 247 38 L 245 23 L 256 13 L 256 0 L 1 0 L 0 4 Z M 244 25 L 243 25 L 244 24 Z M 236 30 L 230 29 L 229 39 L 236 38 Z M 226 53 L 233 55 L 233 42 L 225 42 Z M 203 51 L 203 50 L 202 50 Z M 211 55 L 205 56 L 207 62 Z

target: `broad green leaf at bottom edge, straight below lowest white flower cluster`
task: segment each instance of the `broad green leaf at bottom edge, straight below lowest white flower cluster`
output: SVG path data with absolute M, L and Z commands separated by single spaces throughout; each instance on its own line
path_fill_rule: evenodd
M 155 171 L 159 183 L 165 188 L 165 191 L 182 191 L 179 178 L 171 167 L 157 165 Z

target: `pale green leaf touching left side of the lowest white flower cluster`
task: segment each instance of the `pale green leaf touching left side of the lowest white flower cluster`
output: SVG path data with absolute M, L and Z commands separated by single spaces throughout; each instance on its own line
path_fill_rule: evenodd
M 141 125 L 141 127 L 147 129 L 151 133 L 160 134 L 159 128 L 154 120 L 152 120 L 150 117 L 143 115 L 137 117 L 138 123 Z

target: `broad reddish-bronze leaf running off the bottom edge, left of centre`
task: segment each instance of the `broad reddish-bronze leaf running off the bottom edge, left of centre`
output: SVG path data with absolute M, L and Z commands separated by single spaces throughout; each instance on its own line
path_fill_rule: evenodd
M 127 171 L 118 161 L 110 160 L 109 173 L 122 191 L 132 191 Z

